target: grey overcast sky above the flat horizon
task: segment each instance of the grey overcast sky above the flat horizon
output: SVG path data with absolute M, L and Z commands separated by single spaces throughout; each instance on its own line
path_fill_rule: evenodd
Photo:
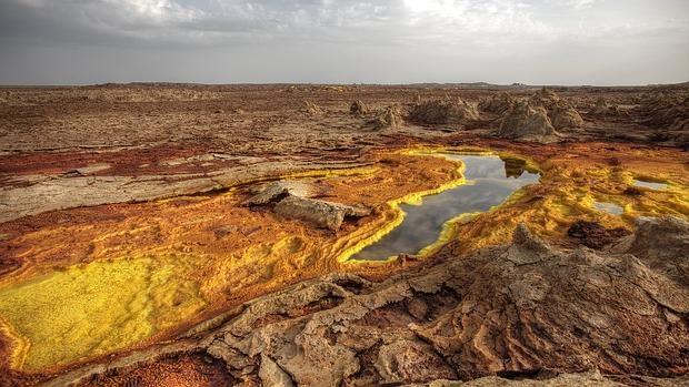
M 0 84 L 689 81 L 688 0 L 0 0 Z

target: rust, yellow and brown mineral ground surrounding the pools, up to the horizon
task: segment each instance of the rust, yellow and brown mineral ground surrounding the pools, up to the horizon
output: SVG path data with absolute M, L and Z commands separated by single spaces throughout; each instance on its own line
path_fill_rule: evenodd
M 1 89 L 0 385 L 687 385 L 688 95 Z M 439 152 L 540 180 L 348 261 Z

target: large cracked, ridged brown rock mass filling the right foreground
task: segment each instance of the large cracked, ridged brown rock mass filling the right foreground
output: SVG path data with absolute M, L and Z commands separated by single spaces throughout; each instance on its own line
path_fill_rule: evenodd
M 286 386 L 447 386 L 588 369 L 678 377 L 689 370 L 689 284 L 676 268 L 686 268 L 687 241 L 689 224 L 669 217 L 641 221 L 603 251 L 553 248 L 520 225 L 509 246 L 446 255 L 379 284 L 331 274 L 254 299 L 206 335 L 193 329 L 183 350 L 221 359 L 238 381 Z M 659 253 L 667 243 L 677 245 Z M 141 357 L 119 360 L 121 369 Z M 596 373 L 556 380 L 617 385 Z

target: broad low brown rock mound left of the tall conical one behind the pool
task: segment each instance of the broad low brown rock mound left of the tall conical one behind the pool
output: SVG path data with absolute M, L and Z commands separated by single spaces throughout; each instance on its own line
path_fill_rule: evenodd
M 477 105 L 460 98 L 422 101 L 409 112 L 409 121 L 420 124 L 467 123 L 478 119 Z

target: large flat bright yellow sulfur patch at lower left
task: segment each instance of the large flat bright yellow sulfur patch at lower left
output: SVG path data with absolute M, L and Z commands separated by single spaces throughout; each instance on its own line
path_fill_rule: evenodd
M 0 289 L 16 368 L 41 369 L 138 344 L 197 313 L 204 302 L 151 257 L 72 266 Z

